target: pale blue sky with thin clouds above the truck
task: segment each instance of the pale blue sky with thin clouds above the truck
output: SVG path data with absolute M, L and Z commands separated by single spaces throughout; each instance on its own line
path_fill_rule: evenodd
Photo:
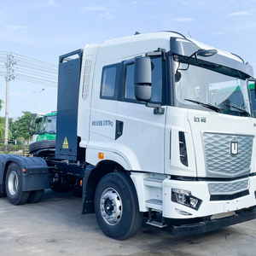
M 86 44 L 135 32 L 176 31 L 240 55 L 253 65 L 256 76 L 256 0 L 2 0 L 0 27 L 0 51 L 56 66 L 60 55 Z M 40 91 L 40 112 L 56 110 L 56 87 L 11 81 L 9 117 L 37 113 Z M 5 94 L 5 78 L 0 76 L 3 102 Z M 0 116 L 5 116 L 5 103 Z

